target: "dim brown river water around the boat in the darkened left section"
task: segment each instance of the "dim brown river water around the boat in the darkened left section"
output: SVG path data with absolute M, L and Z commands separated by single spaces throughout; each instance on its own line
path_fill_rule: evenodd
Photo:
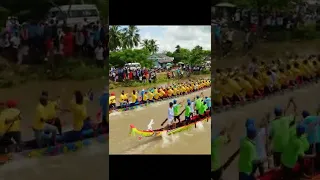
M 21 122 L 22 136 L 23 139 L 31 139 L 33 133 L 30 125 L 42 90 L 47 90 L 52 98 L 61 96 L 62 106 L 68 107 L 75 90 L 87 92 L 92 88 L 95 99 L 90 103 L 88 113 L 91 117 L 95 117 L 99 109 L 98 97 L 105 85 L 107 85 L 107 80 L 33 82 L 9 89 L 0 89 L 0 102 L 7 99 L 19 101 L 19 108 L 23 117 Z M 68 122 L 63 127 L 64 130 L 71 129 L 70 114 L 61 115 L 60 118 Z M 108 143 L 95 142 L 90 147 L 85 147 L 77 152 L 55 157 L 19 158 L 19 160 L 0 166 L 0 180 L 20 180 L 21 177 L 34 180 L 109 179 L 108 149 Z

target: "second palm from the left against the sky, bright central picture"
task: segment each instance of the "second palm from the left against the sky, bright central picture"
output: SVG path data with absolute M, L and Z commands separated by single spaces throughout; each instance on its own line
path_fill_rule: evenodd
M 123 48 L 131 49 L 138 47 L 140 43 L 140 34 L 137 26 L 129 26 L 123 29 Z

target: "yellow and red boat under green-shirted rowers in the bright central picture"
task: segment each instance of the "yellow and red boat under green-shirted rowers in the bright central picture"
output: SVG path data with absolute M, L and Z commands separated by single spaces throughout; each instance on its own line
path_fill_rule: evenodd
M 196 127 L 196 123 L 198 122 L 204 122 L 204 121 L 208 122 L 209 120 L 211 120 L 210 111 L 206 111 L 205 115 L 206 115 L 205 118 L 202 118 L 202 119 L 200 119 L 198 115 L 191 117 L 192 123 L 190 124 L 185 124 L 185 120 L 183 120 L 180 123 L 177 123 L 176 128 L 170 129 L 170 130 L 165 130 L 164 128 L 155 129 L 155 130 L 139 130 L 134 125 L 131 124 L 130 135 L 131 136 L 140 135 L 143 137 L 159 137 L 163 133 L 167 133 L 168 135 L 175 134 L 175 133 Z

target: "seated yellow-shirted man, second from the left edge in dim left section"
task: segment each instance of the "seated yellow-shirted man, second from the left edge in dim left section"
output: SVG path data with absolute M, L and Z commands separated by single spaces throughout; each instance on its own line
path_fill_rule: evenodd
M 33 121 L 33 131 L 36 138 L 36 142 L 39 148 L 42 148 L 48 139 L 46 134 L 51 134 L 49 138 L 52 142 L 55 142 L 57 135 L 57 128 L 51 124 L 46 123 L 48 121 L 47 107 L 48 98 L 46 96 L 40 97 L 40 102 L 36 107 L 36 117 Z

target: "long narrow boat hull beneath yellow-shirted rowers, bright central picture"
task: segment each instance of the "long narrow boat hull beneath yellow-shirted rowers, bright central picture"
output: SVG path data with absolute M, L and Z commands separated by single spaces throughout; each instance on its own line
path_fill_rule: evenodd
M 197 90 L 197 91 L 193 91 L 193 92 L 190 92 L 190 93 L 188 93 L 188 94 L 200 92 L 200 91 L 203 91 L 203 90 L 206 90 L 206 89 L 209 89 L 209 88 L 211 88 L 211 86 L 201 88 L 201 89 L 199 89 L 199 90 Z M 157 100 L 157 101 L 148 102 L 148 103 L 143 103 L 142 101 L 139 101 L 138 103 L 136 103 L 136 104 L 134 104 L 134 105 L 128 105 L 128 106 L 126 106 L 126 107 L 117 106 L 115 109 L 109 110 L 109 114 L 112 113 L 113 111 L 118 111 L 118 112 L 129 111 L 129 110 L 136 109 L 136 108 L 138 108 L 138 107 L 148 106 L 148 105 L 153 104 L 153 103 L 156 103 L 156 102 L 166 101 L 166 100 L 168 100 L 168 99 L 179 98 L 179 97 L 181 97 L 181 96 L 183 96 L 183 95 L 167 97 L 167 98 L 164 98 L 164 99 L 162 99 L 162 100 Z

